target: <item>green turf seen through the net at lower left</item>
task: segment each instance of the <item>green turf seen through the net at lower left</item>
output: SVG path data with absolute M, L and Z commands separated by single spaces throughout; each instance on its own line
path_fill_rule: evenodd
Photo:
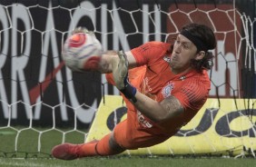
M 84 131 L 71 129 L 6 127 L 0 129 L 0 157 L 5 158 L 51 158 L 54 145 L 63 141 L 82 143 Z

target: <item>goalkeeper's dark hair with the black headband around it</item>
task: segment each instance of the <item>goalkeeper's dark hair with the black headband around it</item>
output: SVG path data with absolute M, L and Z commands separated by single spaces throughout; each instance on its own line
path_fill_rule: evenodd
M 182 31 L 187 31 L 192 34 L 193 37 L 199 39 L 204 45 L 205 55 L 201 60 L 192 59 L 191 65 L 197 71 L 202 72 L 203 69 L 210 70 L 212 68 L 213 62 L 212 58 L 214 57 L 211 52 L 216 47 L 216 38 L 209 26 L 199 25 L 199 24 L 189 24 L 182 27 Z M 201 50 L 197 50 L 199 53 Z

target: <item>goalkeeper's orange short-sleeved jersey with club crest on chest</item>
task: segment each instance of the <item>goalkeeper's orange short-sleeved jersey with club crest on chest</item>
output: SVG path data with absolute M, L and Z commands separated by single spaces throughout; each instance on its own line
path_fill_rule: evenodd
M 138 91 L 157 102 L 175 96 L 182 103 L 184 113 L 166 123 L 153 123 L 126 100 L 128 117 L 132 120 L 129 122 L 135 124 L 137 130 L 173 135 L 192 119 L 208 97 L 211 83 L 205 70 L 202 73 L 192 70 L 186 74 L 172 74 L 170 47 L 171 44 L 149 42 L 134 48 L 131 52 L 138 67 L 129 70 L 129 80 Z

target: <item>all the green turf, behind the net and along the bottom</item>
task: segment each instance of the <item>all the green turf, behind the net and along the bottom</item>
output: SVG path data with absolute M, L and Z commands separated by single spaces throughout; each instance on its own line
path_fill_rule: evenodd
M 22 130 L 22 131 L 20 131 Z M 54 145 L 62 142 L 63 135 L 65 142 L 84 142 L 84 131 L 71 131 L 70 129 L 44 129 L 17 127 L 0 129 L 0 166 L 19 167 L 67 167 L 67 166 L 175 166 L 175 167 L 198 167 L 198 166 L 218 166 L 218 167 L 240 167 L 255 166 L 253 158 L 186 158 L 172 156 L 111 156 L 84 158 L 74 161 L 55 160 L 51 156 L 51 149 Z M 16 140 L 17 139 L 17 140 Z M 40 139 L 40 140 L 38 140 Z M 40 147 L 38 142 L 40 141 Z M 15 148 L 16 142 L 16 148 Z M 40 152 L 38 152 L 40 150 Z

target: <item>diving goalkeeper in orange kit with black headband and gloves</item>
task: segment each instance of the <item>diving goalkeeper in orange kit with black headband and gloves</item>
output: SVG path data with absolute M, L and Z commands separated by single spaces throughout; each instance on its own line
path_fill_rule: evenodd
M 74 160 L 113 155 L 172 137 L 207 100 L 211 89 L 207 70 L 213 57 L 209 50 L 215 46 L 211 28 L 189 24 L 173 45 L 154 41 L 126 53 L 103 54 L 97 71 L 122 93 L 127 119 L 99 141 L 57 145 L 53 156 Z

